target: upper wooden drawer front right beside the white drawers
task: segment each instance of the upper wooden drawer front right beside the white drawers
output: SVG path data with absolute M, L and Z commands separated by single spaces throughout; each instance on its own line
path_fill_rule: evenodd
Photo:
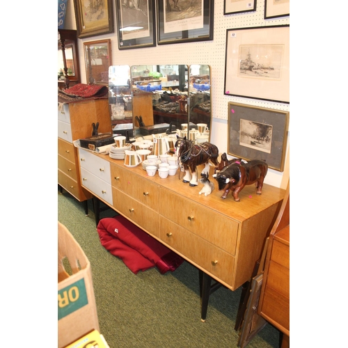
M 111 184 L 143 205 L 158 211 L 159 187 L 157 184 L 115 164 L 111 164 Z

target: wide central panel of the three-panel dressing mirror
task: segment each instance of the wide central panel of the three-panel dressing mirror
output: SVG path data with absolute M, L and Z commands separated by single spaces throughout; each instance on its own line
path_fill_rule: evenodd
M 134 136 L 175 134 L 188 122 L 187 65 L 131 67 Z

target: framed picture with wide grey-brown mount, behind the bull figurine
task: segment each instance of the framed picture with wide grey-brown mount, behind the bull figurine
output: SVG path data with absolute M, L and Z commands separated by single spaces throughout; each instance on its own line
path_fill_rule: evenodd
M 289 112 L 228 103 L 228 155 L 284 171 Z

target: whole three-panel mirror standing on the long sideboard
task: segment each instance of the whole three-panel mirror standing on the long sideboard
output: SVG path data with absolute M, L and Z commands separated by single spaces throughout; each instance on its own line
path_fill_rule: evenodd
M 180 134 L 184 124 L 189 129 L 204 129 L 204 141 L 209 141 L 210 81 L 209 65 L 110 66 L 114 132 L 132 128 L 134 138 Z M 196 138 L 192 140 L 196 142 Z

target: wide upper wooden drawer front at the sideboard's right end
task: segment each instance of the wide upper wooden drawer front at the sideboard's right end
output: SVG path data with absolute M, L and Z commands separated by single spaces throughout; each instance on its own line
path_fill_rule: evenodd
M 161 188 L 159 213 L 224 251 L 235 255 L 239 223 Z

